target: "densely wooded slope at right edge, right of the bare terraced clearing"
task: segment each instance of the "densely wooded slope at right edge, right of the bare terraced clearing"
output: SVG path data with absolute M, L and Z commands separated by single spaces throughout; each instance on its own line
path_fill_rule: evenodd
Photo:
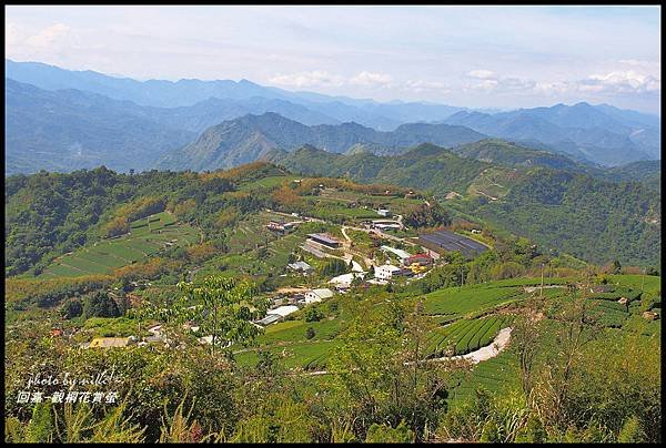
M 501 201 L 468 205 L 509 232 L 593 263 L 660 265 L 662 197 L 638 182 L 535 169 Z

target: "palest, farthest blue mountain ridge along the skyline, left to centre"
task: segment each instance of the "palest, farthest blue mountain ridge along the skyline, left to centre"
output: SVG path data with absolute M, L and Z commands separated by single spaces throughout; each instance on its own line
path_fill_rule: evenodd
M 291 92 L 263 86 L 248 80 L 238 82 L 231 80 L 137 81 L 130 78 L 109 77 L 90 70 L 71 71 L 41 62 L 14 62 L 9 59 L 4 60 L 4 75 L 44 90 L 78 89 L 115 100 L 132 101 L 138 105 L 157 108 L 192 106 L 211 98 L 238 102 L 253 98 L 282 100 L 300 104 L 313 113 L 327 116 L 331 124 L 355 121 L 366 126 L 386 131 L 406 122 L 443 120 L 452 113 L 466 110 L 466 108 L 444 104 L 422 102 L 377 103 L 372 100 L 354 100 L 311 92 Z

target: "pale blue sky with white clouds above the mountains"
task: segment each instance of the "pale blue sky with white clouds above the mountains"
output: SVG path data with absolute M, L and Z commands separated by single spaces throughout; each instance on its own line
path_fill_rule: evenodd
M 6 57 L 376 101 L 658 113 L 658 7 L 6 7 Z

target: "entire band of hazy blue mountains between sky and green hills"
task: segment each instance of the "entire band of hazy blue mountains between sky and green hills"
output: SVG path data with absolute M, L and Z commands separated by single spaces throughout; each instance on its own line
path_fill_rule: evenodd
M 659 118 L 607 104 L 490 113 L 290 92 L 246 80 L 137 81 L 11 60 L 6 114 L 6 174 L 101 164 L 121 172 L 214 170 L 275 147 L 386 155 L 420 143 L 454 147 L 487 138 L 579 165 L 660 157 Z M 488 156 L 484 147 L 477 159 Z

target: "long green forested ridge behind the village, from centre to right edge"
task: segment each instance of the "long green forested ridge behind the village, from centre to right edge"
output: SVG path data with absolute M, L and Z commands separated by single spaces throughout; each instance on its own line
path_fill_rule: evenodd
M 266 159 L 294 172 L 392 182 L 431 191 L 440 198 L 455 192 L 462 198 L 445 204 L 589 262 L 660 263 L 660 194 L 607 171 L 589 169 L 592 176 L 543 166 L 500 166 L 428 144 L 391 157 L 303 147 L 292 153 L 272 151 Z M 546 157 L 544 164 L 554 161 L 559 159 Z

